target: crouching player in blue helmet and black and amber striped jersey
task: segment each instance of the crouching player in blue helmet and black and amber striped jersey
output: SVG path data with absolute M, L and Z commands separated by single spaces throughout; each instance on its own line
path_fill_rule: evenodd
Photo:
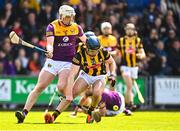
M 87 123 L 92 123 L 94 120 L 99 122 L 101 115 L 98 111 L 94 110 L 102 96 L 106 84 L 106 67 L 105 62 L 109 64 L 109 71 L 111 73 L 110 78 L 114 80 L 115 74 L 115 61 L 108 51 L 104 51 L 100 48 L 99 40 L 96 36 L 89 36 L 87 38 L 86 47 L 82 47 L 79 52 L 76 53 L 72 60 L 71 71 L 68 77 L 67 88 L 72 89 L 72 93 L 69 97 L 75 98 L 80 93 L 86 91 L 86 89 L 92 86 L 92 103 L 87 113 Z M 74 78 L 81 69 L 78 78 L 74 82 Z M 67 108 L 71 101 L 61 102 L 57 110 L 52 115 L 52 122 L 57 118 L 59 112 L 62 112 Z M 46 121 L 46 120 L 45 120 Z

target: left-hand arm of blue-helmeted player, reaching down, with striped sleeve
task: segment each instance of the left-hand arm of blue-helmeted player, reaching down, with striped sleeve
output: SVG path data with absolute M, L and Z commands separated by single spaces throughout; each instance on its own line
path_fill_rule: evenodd
M 76 53 L 76 55 L 73 57 L 72 65 L 71 65 L 69 76 L 67 79 L 66 99 L 69 101 L 73 100 L 72 88 L 73 88 L 73 84 L 74 84 L 74 79 L 75 79 L 76 75 L 78 74 L 79 69 L 80 69 L 80 55 L 79 55 L 79 53 Z

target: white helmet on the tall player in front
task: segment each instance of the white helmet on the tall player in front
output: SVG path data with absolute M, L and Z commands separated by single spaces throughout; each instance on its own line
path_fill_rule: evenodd
M 59 15 L 61 16 L 61 18 L 64 18 L 66 16 L 73 16 L 74 17 L 76 15 L 76 13 L 74 11 L 74 8 L 72 8 L 71 6 L 62 5 L 59 8 Z

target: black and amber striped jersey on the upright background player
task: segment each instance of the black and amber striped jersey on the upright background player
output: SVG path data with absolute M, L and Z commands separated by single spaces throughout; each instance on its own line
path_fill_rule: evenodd
M 143 48 L 139 37 L 121 37 L 118 44 L 118 49 L 121 52 L 121 65 L 128 67 L 137 66 L 137 56 L 139 49 Z

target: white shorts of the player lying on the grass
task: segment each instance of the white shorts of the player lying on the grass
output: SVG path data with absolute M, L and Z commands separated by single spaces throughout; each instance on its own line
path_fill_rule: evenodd
M 120 109 L 118 111 L 107 110 L 106 116 L 115 116 L 115 115 L 122 113 L 125 110 L 124 96 L 120 93 L 118 93 L 118 94 L 119 94 L 119 97 L 121 98 L 121 102 L 122 102 Z

